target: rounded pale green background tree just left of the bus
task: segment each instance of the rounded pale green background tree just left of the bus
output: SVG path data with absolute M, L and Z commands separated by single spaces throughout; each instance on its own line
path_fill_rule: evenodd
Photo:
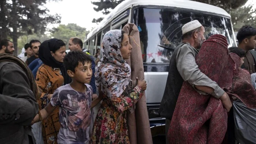
M 67 43 L 68 49 L 68 40 L 71 37 L 78 37 L 83 41 L 84 37 L 89 33 L 89 31 L 87 31 L 86 28 L 80 27 L 74 23 L 69 23 L 67 25 L 60 24 L 59 27 L 53 28 L 51 33 L 52 37 L 61 39 Z

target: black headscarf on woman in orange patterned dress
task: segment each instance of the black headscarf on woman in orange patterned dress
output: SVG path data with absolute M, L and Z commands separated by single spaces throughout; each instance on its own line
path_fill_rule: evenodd
M 49 39 L 47 41 L 42 42 L 39 47 L 38 56 L 45 65 L 48 65 L 49 67 L 52 67 L 52 68 L 60 68 L 61 75 L 64 77 L 64 84 L 69 84 L 71 83 L 71 78 L 68 76 L 68 73 L 64 68 L 63 62 L 56 61 L 52 56 L 52 54 L 50 53 L 51 51 L 53 51 L 54 45 L 56 44 L 57 41 L 61 41 L 61 40 L 53 38 L 53 39 Z

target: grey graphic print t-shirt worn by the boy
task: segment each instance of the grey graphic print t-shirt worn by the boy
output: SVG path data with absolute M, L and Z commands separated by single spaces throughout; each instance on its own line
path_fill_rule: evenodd
M 50 100 L 52 106 L 59 106 L 61 128 L 58 144 L 85 144 L 89 142 L 91 122 L 92 87 L 85 84 L 85 93 L 75 91 L 70 84 L 61 86 L 54 91 Z

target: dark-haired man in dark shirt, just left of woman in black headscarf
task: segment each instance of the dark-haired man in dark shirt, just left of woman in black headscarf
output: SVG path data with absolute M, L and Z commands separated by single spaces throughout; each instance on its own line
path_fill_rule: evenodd
M 29 45 L 30 45 L 29 47 L 33 50 L 35 55 L 30 58 L 27 58 L 27 61 L 26 61 L 27 65 L 29 65 L 32 61 L 38 58 L 38 51 L 39 51 L 39 46 L 41 45 L 41 42 L 36 39 L 32 39 L 29 42 Z

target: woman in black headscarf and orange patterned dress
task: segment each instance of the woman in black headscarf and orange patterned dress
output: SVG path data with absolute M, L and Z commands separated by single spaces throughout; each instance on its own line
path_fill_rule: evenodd
M 58 87 L 71 82 L 63 65 L 65 50 L 65 43 L 56 38 L 44 41 L 40 45 L 39 58 L 44 64 L 39 67 L 35 78 L 38 87 L 42 90 L 41 97 L 37 100 L 40 110 L 48 104 Z M 55 109 L 48 118 L 42 121 L 44 143 L 57 144 L 59 129 L 59 109 Z

